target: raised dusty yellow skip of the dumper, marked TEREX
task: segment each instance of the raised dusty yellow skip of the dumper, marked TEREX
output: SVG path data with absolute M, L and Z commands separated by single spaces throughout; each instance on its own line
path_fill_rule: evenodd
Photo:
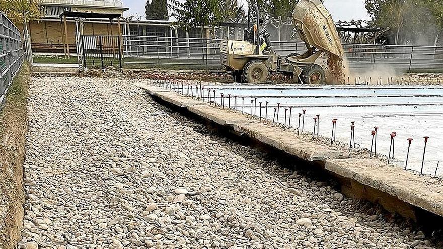
M 325 53 L 343 58 L 343 47 L 331 14 L 320 0 L 299 0 L 293 19 L 302 41 Z

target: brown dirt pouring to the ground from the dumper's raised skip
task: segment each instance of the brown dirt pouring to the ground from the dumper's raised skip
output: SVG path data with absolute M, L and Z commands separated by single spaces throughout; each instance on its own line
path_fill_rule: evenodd
M 326 55 L 326 83 L 327 84 L 346 84 L 346 78 L 350 75 L 349 65 L 345 59 L 327 54 Z

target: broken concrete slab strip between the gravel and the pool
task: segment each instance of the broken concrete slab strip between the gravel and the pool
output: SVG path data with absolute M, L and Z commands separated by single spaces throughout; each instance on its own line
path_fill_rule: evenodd
M 443 216 L 443 184 L 439 179 L 418 176 L 379 159 L 351 158 L 344 149 L 308 141 L 296 133 L 259 122 L 227 108 L 210 106 L 201 99 L 138 84 L 151 96 L 180 107 L 302 160 L 324 165 L 342 180 L 343 192 L 380 203 L 388 211 L 417 220 L 421 210 Z

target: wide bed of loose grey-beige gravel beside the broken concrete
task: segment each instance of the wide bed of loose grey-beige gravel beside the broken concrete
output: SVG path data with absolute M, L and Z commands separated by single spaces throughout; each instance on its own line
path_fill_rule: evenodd
M 436 246 L 403 219 L 159 106 L 132 82 L 32 78 L 18 248 Z

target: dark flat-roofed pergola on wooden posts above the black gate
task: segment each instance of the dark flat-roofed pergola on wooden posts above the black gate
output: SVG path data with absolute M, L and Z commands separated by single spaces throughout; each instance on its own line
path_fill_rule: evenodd
M 67 17 L 71 17 L 71 18 L 79 18 L 79 19 L 83 19 L 82 21 L 80 21 L 80 27 L 78 27 L 77 25 L 77 21 L 76 21 L 76 28 L 78 28 L 80 35 L 83 35 L 83 21 L 85 19 L 88 18 L 98 18 L 98 19 L 109 19 L 109 22 L 111 23 L 111 35 L 113 35 L 113 28 L 112 28 L 112 24 L 113 24 L 113 20 L 115 18 L 117 18 L 117 23 L 118 23 L 118 35 L 121 36 L 121 27 L 120 27 L 120 18 L 121 18 L 121 14 L 119 13 L 91 13 L 91 12 L 77 12 L 77 11 L 64 11 L 63 13 L 60 14 L 60 26 L 63 26 L 63 22 L 64 22 L 64 35 L 62 34 L 62 40 L 63 40 L 63 50 L 64 50 L 64 54 L 65 56 L 67 55 L 68 57 L 70 57 L 70 52 L 69 52 L 69 44 L 67 41 L 68 38 L 68 33 L 67 33 L 67 22 L 66 22 L 66 18 Z M 63 27 L 61 27 L 61 30 L 63 32 Z

